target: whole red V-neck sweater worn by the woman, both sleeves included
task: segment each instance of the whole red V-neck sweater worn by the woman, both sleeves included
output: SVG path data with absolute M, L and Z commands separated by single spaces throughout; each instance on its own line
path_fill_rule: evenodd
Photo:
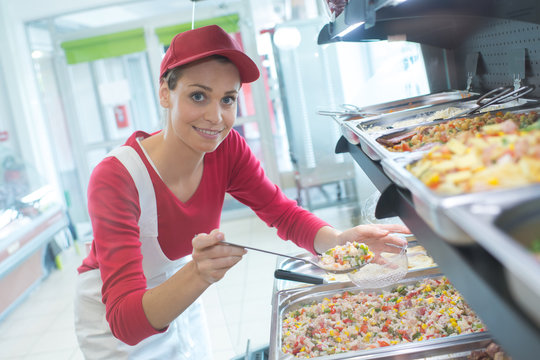
M 314 253 L 315 234 L 327 223 L 285 197 L 265 176 L 259 161 L 236 131 L 231 131 L 214 152 L 205 155 L 199 187 L 185 203 L 161 180 L 136 141 L 148 136 L 136 132 L 126 145 L 137 151 L 152 179 L 158 241 L 169 259 L 191 254 L 195 234 L 219 228 L 226 192 L 253 209 L 268 226 L 277 228 L 280 238 Z M 79 273 L 100 269 L 102 300 L 111 331 L 125 343 L 136 344 L 159 331 L 150 325 L 142 308 L 147 284 L 139 242 L 138 193 L 118 159 L 105 158 L 92 172 L 88 210 L 94 241 Z

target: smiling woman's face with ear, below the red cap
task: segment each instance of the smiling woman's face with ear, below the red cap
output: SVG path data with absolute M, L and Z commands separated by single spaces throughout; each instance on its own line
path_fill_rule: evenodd
M 162 81 L 160 103 L 168 109 L 167 136 L 196 153 L 214 151 L 236 120 L 240 74 L 220 59 L 185 66 L 174 89 Z

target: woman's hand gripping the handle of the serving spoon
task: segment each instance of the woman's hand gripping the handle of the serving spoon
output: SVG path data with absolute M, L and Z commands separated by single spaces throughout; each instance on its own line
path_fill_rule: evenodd
M 209 284 L 221 280 L 247 252 L 236 246 L 220 245 L 224 239 L 225 235 L 215 229 L 210 234 L 198 234 L 192 240 L 193 261 L 201 278 Z

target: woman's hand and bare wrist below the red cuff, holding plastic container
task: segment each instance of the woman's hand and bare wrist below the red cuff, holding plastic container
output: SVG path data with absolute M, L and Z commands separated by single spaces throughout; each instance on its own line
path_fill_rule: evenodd
M 407 241 L 391 235 L 395 233 L 410 234 L 411 231 L 406 226 L 398 224 L 358 225 L 343 232 L 324 226 L 315 236 L 314 245 L 315 250 L 320 254 L 336 245 L 344 245 L 353 241 L 365 243 L 376 254 L 381 252 L 397 253 L 400 251 L 398 248 L 386 244 L 403 247 Z

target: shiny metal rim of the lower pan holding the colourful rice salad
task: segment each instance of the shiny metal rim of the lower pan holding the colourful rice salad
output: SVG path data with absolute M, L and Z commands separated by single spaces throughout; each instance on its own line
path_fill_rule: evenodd
M 399 283 L 383 289 L 371 290 L 370 292 L 380 293 L 383 290 L 391 290 L 397 285 L 414 284 L 419 280 L 437 277 L 429 273 L 408 274 Z M 293 355 L 285 354 L 281 351 L 281 321 L 287 311 L 294 310 L 306 303 L 320 301 L 325 297 L 331 297 L 337 292 L 350 291 L 356 293 L 360 291 L 352 283 L 332 283 L 324 285 L 310 286 L 307 288 L 282 290 L 274 294 L 272 299 L 272 323 L 271 338 L 269 346 L 270 360 L 291 360 L 296 359 Z M 462 334 L 439 339 L 430 339 L 420 342 L 391 345 L 383 348 L 370 350 L 350 351 L 347 353 L 320 356 L 316 359 L 419 359 L 434 356 L 447 355 L 448 359 L 464 358 L 473 350 L 485 348 L 490 343 L 488 332 Z M 455 356 L 452 356 L 454 354 Z

